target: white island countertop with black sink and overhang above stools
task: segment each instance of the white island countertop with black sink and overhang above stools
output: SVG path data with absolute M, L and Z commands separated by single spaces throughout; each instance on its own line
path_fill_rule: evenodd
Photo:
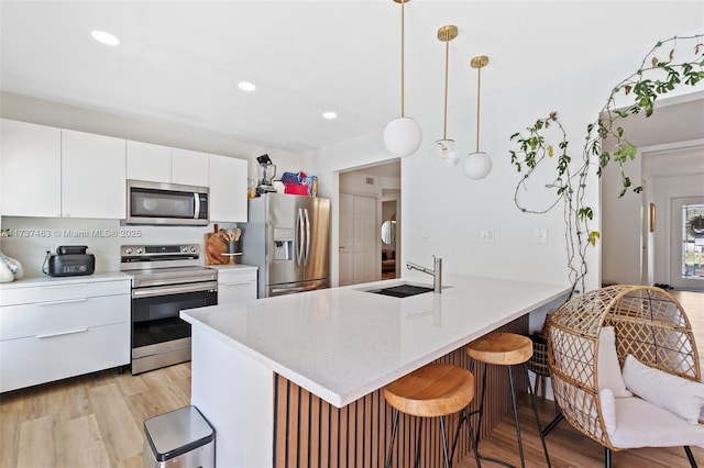
M 387 280 L 182 311 L 193 326 L 342 408 L 553 300 L 569 286 L 444 278 L 441 294 L 365 292 Z M 227 372 L 227 369 L 222 369 Z

